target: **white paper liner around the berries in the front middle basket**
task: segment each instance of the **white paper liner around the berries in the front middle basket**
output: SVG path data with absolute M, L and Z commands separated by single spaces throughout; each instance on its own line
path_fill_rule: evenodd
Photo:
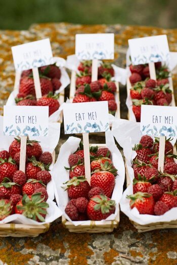
M 64 166 L 69 167 L 68 157 L 71 153 L 75 152 L 79 146 L 80 139 L 76 137 L 69 137 L 68 140 L 61 146 L 60 153 L 56 162 L 56 167 L 53 170 L 53 180 L 55 181 L 55 197 L 57 204 L 59 205 L 62 214 L 67 220 L 72 222 L 73 225 L 78 226 L 81 224 L 89 225 L 90 221 L 71 221 L 70 218 L 65 214 L 65 207 L 69 201 L 67 191 L 62 189 L 64 182 L 69 180 L 69 172 L 65 170 Z M 106 146 L 110 149 L 112 154 L 112 162 L 118 170 L 118 176 L 116 177 L 115 187 L 112 194 L 112 199 L 116 201 L 115 214 L 109 216 L 106 220 L 114 220 L 118 211 L 118 203 L 121 199 L 123 192 L 124 183 L 124 163 L 123 158 L 114 142 L 114 137 L 111 131 L 106 132 Z M 100 221 L 105 224 L 106 221 Z

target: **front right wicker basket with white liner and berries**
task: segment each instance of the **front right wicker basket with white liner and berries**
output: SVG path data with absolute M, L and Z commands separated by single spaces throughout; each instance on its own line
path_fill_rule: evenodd
M 140 124 L 126 120 L 114 121 L 112 131 L 125 156 L 128 185 L 120 201 L 123 213 L 139 232 L 177 228 L 176 138 L 166 138 L 161 171 L 158 138 L 141 136 Z

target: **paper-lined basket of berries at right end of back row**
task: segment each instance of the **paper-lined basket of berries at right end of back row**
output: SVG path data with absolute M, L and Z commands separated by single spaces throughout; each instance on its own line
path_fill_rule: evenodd
M 129 49 L 126 54 L 128 78 L 126 83 L 128 120 L 140 122 L 141 105 L 175 106 L 171 71 L 175 67 L 176 52 L 170 52 L 170 63 L 155 63 L 156 79 L 150 78 L 148 64 L 133 66 Z M 173 58 L 174 57 L 174 58 Z

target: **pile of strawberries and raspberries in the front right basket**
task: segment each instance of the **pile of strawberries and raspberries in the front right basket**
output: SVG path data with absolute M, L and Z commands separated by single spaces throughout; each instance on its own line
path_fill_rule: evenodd
M 137 156 L 132 166 L 134 194 L 127 196 L 130 207 L 137 207 L 140 214 L 157 216 L 177 207 L 177 164 L 170 139 L 165 142 L 164 173 L 158 171 L 158 138 L 154 142 L 150 136 L 144 135 L 133 149 Z

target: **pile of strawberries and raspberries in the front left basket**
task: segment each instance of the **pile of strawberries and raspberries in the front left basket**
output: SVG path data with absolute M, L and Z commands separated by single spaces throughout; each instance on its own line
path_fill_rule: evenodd
M 13 214 L 45 221 L 51 163 L 52 154 L 42 152 L 35 140 L 27 139 L 25 173 L 19 170 L 19 137 L 10 144 L 9 151 L 0 151 L 0 221 Z

